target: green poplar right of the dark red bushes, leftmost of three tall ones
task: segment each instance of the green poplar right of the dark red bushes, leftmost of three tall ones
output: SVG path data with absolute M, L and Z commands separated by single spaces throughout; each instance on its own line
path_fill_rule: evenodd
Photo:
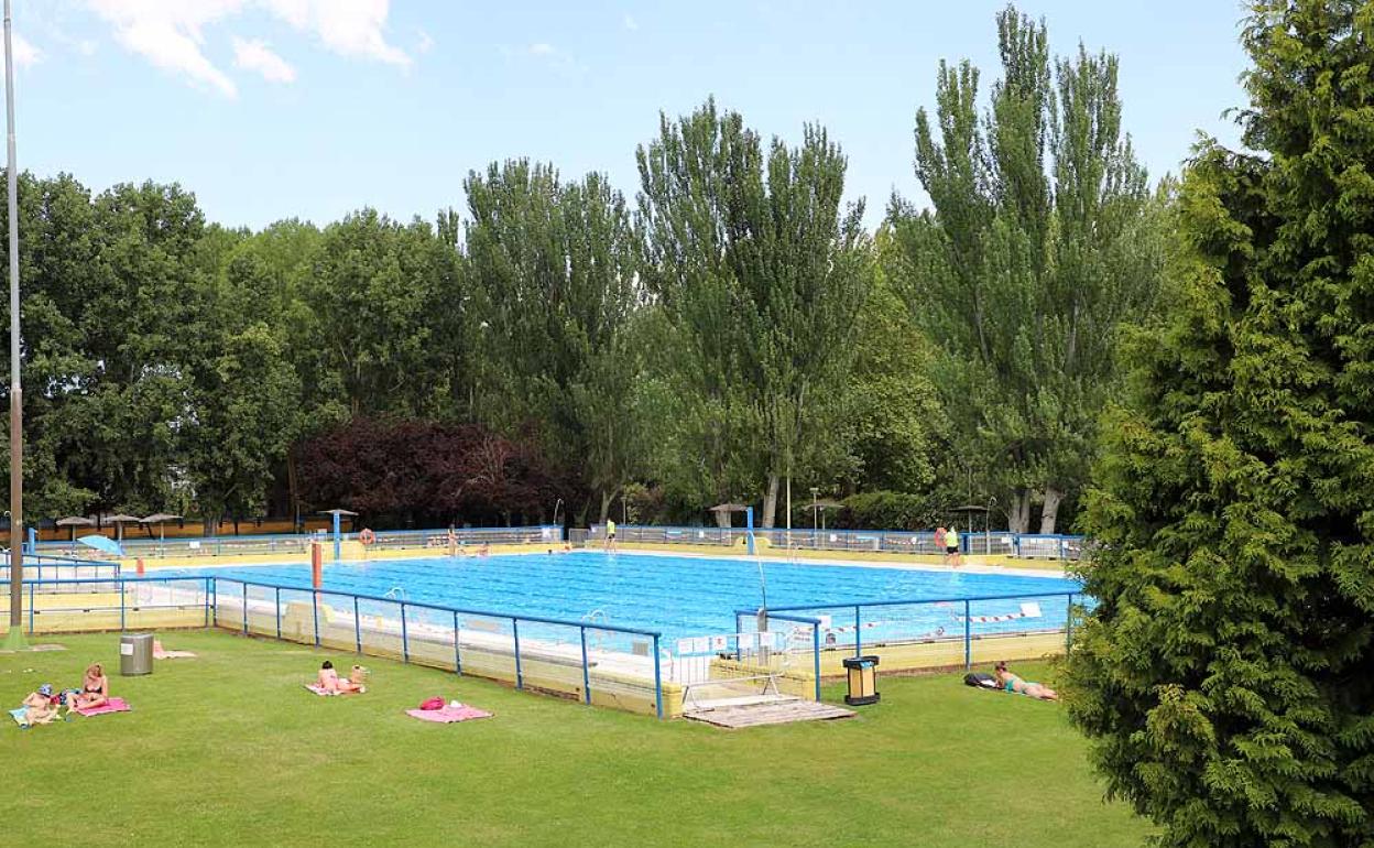
M 602 175 L 563 183 L 526 161 L 473 173 L 466 190 L 484 418 L 534 423 L 545 449 L 581 470 L 605 521 L 642 465 L 643 348 L 631 330 L 643 297 L 625 199 Z

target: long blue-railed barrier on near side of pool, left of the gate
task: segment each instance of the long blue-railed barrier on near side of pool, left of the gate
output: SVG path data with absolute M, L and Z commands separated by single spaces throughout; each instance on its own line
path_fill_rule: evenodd
M 23 585 L 30 634 L 221 627 L 431 665 L 658 717 L 671 706 L 657 631 L 214 576 L 26 580 Z

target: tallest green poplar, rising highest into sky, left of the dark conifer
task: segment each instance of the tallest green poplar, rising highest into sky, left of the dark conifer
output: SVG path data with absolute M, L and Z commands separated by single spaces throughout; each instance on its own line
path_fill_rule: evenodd
M 996 469 L 1013 529 L 1054 532 L 1087 477 L 1113 339 L 1154 301 L 1160 216 L 1121 132 L 1117 60 L 1050 60 L 1044 23 L 998 15 L 1002 78 L 980 117 L 978 71 L 940 66 L 916 114 L 916 175 L 933 212 L 894 203 L 897 276 L 944 353 L 934 374 L 955 454 Z M 974 459 L 977 458 L 977 459 Z

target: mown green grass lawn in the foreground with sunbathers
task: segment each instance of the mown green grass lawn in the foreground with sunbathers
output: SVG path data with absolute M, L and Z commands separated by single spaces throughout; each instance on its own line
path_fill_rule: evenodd
M 0 727 L 4 843 L 293 845 L 1138 845 L 1061 708 L 960 675 L 879 678 L 860 717 L 723 731 L 364 660 L 365 695 L 301 682 L 349 654 L 166 634 L 195 660 L 120 678 L 118 635 L 0 654 L 0 701 L 102 661 L 133 712 Z M 1035 673 L 1046 669 L 1028 667 Z M 27 671 L 33 669 L 33 671 Z M 442 694 L 496 713 L 430 724 Z M 842 691 L 827 690 L 838 701 Z

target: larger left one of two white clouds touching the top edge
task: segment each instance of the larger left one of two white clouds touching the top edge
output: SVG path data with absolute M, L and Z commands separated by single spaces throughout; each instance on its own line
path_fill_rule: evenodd
M 158 67 L 210 85 L 227 98 L 238 95 L 229 80 L 201 51 L 201 30 L 242 8 L 242 0 L 88 0 L 114 26 L 115 40 Z

